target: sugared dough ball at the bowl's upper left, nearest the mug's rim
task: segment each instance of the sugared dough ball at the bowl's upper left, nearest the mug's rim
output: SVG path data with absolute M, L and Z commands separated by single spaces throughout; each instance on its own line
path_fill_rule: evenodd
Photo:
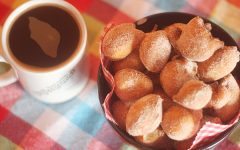
M 110 60 L 123 59 L 139 47 L 144 35 L 133 23 L 116 25 L 103 38 L 103 54 Z

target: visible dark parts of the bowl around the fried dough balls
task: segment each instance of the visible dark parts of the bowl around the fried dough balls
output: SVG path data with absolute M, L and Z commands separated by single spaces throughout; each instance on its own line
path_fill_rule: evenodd
M 187 13 L 180 13 L 180 12 L 167 12 L 167 13 L 159 13 L 155 15 L 151 15 L 146 17 L 146 22 L 144 22 L 141 25 L 137 25 L 137 29 L 140 29 L 144 32 L 150 32 L 153 27 L 157 24 L 158 29 L 163 29 L 164 27 L 171 25 L 173 23 L 187 23 L 189 22 L 192 18 L 196 17 L 196 15 L 193 14 L 187 14 Z M 202 17 L 203 18 L 203 17 Z M 237 43 L 233 40 L 233 38 L 226 32 L 224 31 L 221 27 L 216 25 L 215 23 L 211 22 L 208 19 L 203 18 L 205 22 L 209 22 L 212 24 L 212 30 L 211 33 L 213 36 L 218 37 L 220 40 L 225 42 L 225 45 L 229 46 L 237 46 Z M 239 50 L 239 47 L 238 47 Z M 233 76 L 239 80 L 240 79 L 240 64 L 236 66 L 234 71 L 232 72 Z M 104 78 L 102 68 L 99 66 L 99 71 L 98 71 L 98 95 L 99 95 L 99 101 L 102 106 L 104 99 L 109 93 L 110 88 L 107 83 L 107 81 Z M 102 107 L 103 109 L 103 107 Z M 104 111 L 104 109 L 103 109 Z M 132 136 L 130 136 L 127 132 L 122 130 L 120 127 L 109 121 L 109 124 L 113 127 L 113 129 L 129 144 L 138 147 L 140 149 L 145 149 L 145 150 L 153 150 L 151 147 L 145 146 L 139 142 L 137 142 Z M 216 147 L 219 143 L 221 143 L 224 139 L 228 137 L 228 135 L 236 128 L 238 125 L 240 125 L 240 121 L 233 125 L 231 128 L 227 129 L 225 132 L 221 133 L 218 135 L 213 141 L 210 143 L 203 145 L 201 147 L 198 147 L 197 149 L 213 149 Z

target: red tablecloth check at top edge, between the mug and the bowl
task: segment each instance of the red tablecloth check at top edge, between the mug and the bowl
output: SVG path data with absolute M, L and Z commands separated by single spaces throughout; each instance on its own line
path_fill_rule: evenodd
M 87 13 L 106 24 L 109 22 L 121 23 L 134 21 L 133 18 L 125 13 L 100 0 L 93 0 Z

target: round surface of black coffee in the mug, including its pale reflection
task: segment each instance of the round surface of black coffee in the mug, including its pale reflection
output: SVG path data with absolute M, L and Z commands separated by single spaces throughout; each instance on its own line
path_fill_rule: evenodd
M 67 60 L 77 49 L 80 31 L 66 11 L 41 6 L 21 15 L 9 33 L 16 59 L 35 67 L 52 67 Z

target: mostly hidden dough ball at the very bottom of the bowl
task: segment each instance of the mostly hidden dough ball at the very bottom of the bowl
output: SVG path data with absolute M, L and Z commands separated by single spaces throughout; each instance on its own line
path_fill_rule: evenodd
M 135 139 L 156 149 L 171 149 L 173 144 L 173 140 L 169 139 L 161 128 L 157 128 L 153 132 L 143 136 L 136 136 Z

